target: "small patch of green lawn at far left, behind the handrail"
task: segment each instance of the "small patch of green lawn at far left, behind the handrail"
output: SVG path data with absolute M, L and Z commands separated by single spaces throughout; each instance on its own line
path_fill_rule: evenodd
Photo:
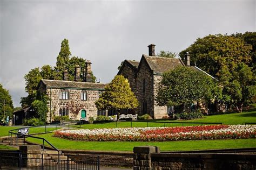
M 0 126 L 0 137 L 8 136 L 9 130 L 18 129 L 18 128 L 22 128 L 22 127 L 21 126 Z M 57 129 L 59 129 L 59 128 L 57 128 Z M 50 131 L 53 131 L 53 130 L 55 130 L 55 128 L 48 128 L 46 126 L 46 132 L 50 132 Z M 29 128 L 29 133 L 30 134 L 31 133 L 42 133 L 42 132 L 45 132 L 44 126 L 43 127 L 38 127 L 38 128 Z

